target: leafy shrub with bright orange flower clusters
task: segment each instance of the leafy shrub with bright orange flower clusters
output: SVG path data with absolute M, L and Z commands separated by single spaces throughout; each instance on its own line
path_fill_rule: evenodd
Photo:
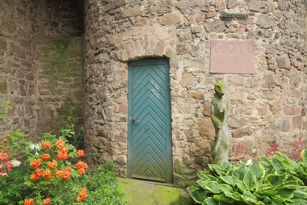
M 24 176 L 24 184 L 32 193 L 25 196 L 23 204 L 73 204 L 84 200 L 86 189 L 75 184 L 73 178 L 84 174 L 88 166 L 80 160 L 76 165 L 68 160 L 83 156 L 84 151 L 77 151 L 62 136 L 56 139 L 50 133 L 42 135 L 42 141 L 36 144 L 26 141 L 21 134 L 19 138 L 11 137 L 7 141 L 7 148 L 25 148 L 23 152 L 27 159 L 24 164 L 30 169 Z

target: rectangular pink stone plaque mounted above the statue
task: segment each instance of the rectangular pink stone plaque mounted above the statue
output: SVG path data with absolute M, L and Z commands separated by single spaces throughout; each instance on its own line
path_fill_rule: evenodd
M 254 74 L 254 42 L 236 40 L 211 40 L 211 73 Z

